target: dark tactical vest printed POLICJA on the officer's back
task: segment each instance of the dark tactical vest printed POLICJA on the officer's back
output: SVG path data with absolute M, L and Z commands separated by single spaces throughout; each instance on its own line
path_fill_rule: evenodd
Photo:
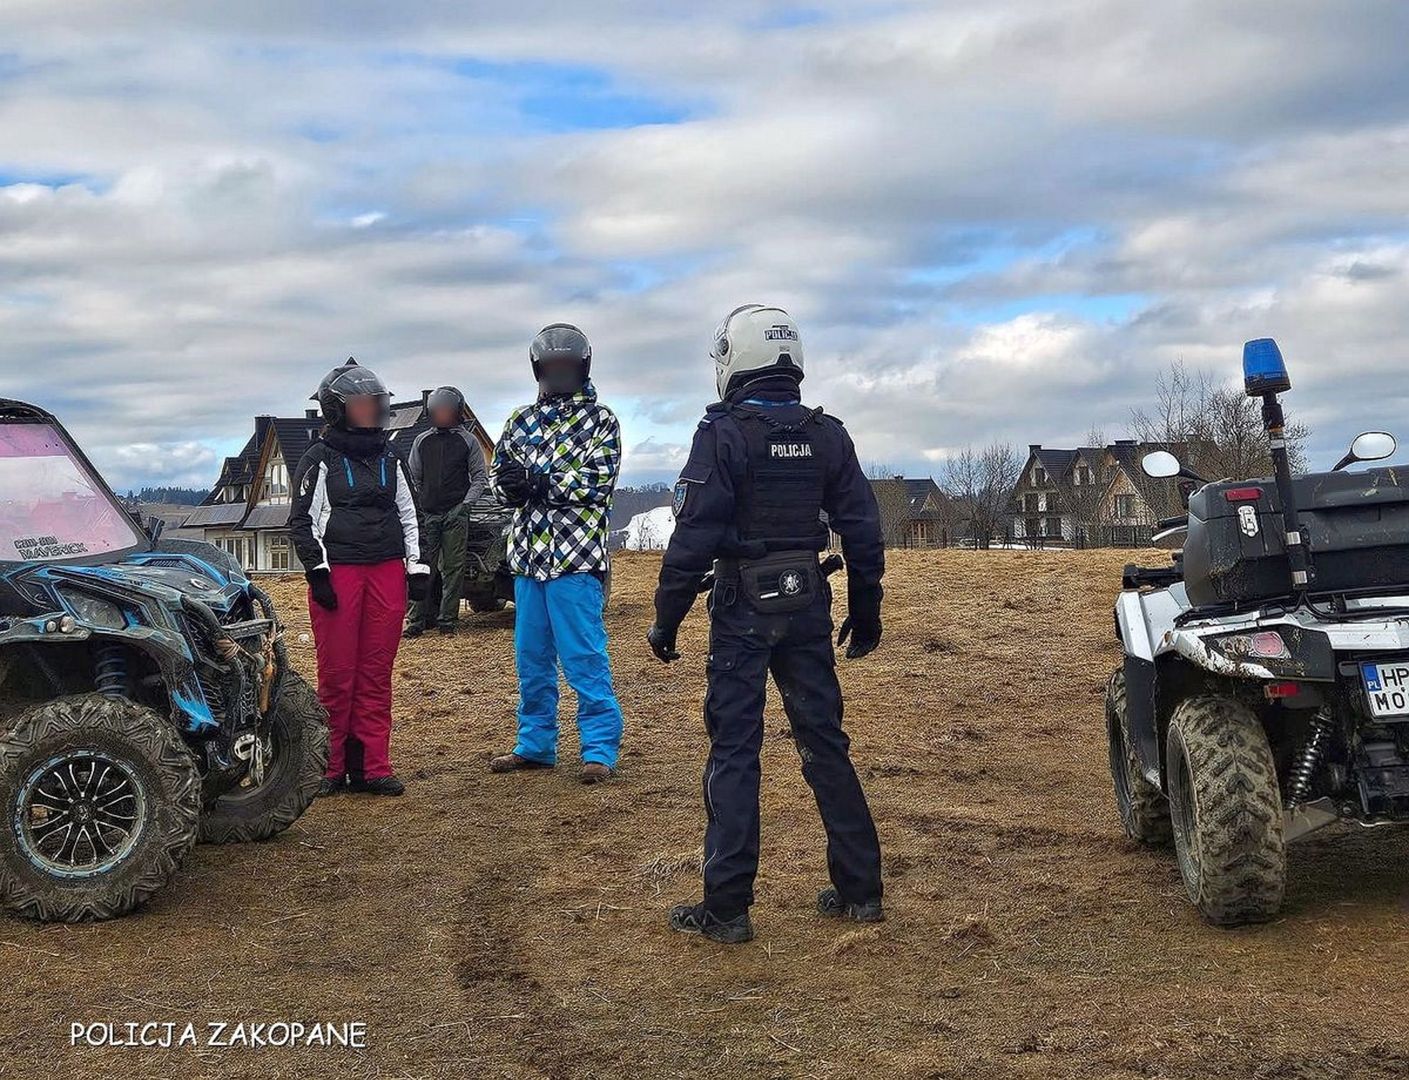
M 806 410 L 783 424 L 765 410 L 730 410 L 748 449 L 748 467 L 735 493 L 738 536 L 768 551 L 821 551 L 821 496 L 827 476 L 826 442 L 819 439 L 821 410 Z

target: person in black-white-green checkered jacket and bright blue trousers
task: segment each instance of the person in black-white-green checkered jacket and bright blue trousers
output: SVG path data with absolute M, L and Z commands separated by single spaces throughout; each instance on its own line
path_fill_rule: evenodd
M 621 427 L 589 379 L 592 345 L 576 327 L 544 327 L 528 349 L 538 400 L 514 410 L 495 446 L 490 484 L 514 507 L 519 738 L 493 758 L 496 773 L 550 769 L 558 759 L 558 665 L 578 694 L 583 783 L 612 776 L 621 707 L 602 620 L 612 493 Z

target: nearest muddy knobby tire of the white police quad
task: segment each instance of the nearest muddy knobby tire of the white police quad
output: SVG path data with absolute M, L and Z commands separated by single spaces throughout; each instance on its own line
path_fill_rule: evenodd
M 1179 873 L 1216 927 L 1265 922 L 1282 907 L 1282 797 L 1267 732 L 1234 697 L 1191 697 L 1165 742 Z

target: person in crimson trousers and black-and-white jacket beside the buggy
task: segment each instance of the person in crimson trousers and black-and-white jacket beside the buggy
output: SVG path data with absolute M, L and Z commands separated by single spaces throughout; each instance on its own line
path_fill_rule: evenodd
M 334 368 L 314 401 L 323 434 L 293 480 L 289 529 L 309 580 L 318 701 L 331 746 L 320 796 L 399 796 L 392 770 L 392 665 L 406 597 L 424 597 L 411 482 L 387 448 L 392 396 L 356 360 Z

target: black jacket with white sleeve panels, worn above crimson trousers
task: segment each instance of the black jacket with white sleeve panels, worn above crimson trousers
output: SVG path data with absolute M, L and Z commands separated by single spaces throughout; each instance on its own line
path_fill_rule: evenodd
M 404 559 L 407 573 L 430 572 L 410 477 L 385 438 L 324 432 L 294 473 L 289 532 L 309 570 Z

